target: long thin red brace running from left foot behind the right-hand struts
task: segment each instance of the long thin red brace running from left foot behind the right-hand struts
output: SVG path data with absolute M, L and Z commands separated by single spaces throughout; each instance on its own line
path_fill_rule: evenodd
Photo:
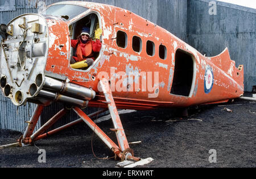
M 95 113 L 89 114 L 88 116 L 89 116 L 89 118 L 91 118 L 92 116 L 95 116 L 95 115 L 97 115 L 97 114 L 104 113 L 105 111 L 107 111 L 107 109 L 97 111 L 97 112 L 95 112 Z M 44 134 L 42 134 L 42 135 L 39 135 L 38 137 L 36 137 L 36 138 L 34 139 L 34 141 L 39 140 L 39 139 L 46 138 L 46 137 L 49 136 L 49 135 L 55 134 L 56 132 L 59 132 L 59 131 L 61 131 L 61 130 L 64 130 L 65 128 L 71 127 L 71 126 L 73 126 L 73 125 L 75 125 L 75 124 L 77 124 L 77 123 L 80 123 L 80 122 L 82 122 L 82 121 L 83 121 L 83 120 L 82 120 L 81 118 L 80 118 L 80 119 L 77 119 L 77 120 L 74 120 L 73 122 L 70 122 L 70 123 L 68 123 L 68 124 L 65 124 L 64 126 L 55 128 L 55 129 L 52 130 L 52 131 L 46 132 L 46 133 L 44 133 Z

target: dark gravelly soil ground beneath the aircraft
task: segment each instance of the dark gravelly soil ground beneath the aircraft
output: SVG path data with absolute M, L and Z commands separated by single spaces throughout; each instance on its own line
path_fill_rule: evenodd
M 256 167 L 256 102 L 236 99 L 233 103 L 192 107 L 187 118 L 180 117 L 177 111 L 160 109 L 120 115 L 128 141 L 142 141 L 130 145 L 135 156 L 154 159 L 141 167 Z M 109 130 L 113 127 L 111 120 L 98 126 L 116 141 L 114 132 Z M 22 135 L 10 130 L 0 132 L 0 145 L 14 143 Z M 112 157 L 113 153 L 96 135 L 92 136 L 93 131 L 80 123 L 36 141 L 36 147 L 0 149 L 0 166 L 115 167 L 119 161 L 97 158 Z M 38 162 L 38 148 L 46 150 L 46 163 Z M 217 163 L 209 162 L 210 149 L 216 150 Z

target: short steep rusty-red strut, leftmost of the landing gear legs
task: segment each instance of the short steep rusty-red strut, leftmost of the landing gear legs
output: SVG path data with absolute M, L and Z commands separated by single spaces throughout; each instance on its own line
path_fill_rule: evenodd
M 30 121 L 28 122 L 28 126 L 26 128 L 26 131 L 23 134 L 23 139 L 29 138 L 31 134 L 33 133 L 36 123 L 38 123 L 39 116 L 41 115 L 43 111 L 44 106 L 43 105 L 37 105 L 33 115 L 30 118 Z

